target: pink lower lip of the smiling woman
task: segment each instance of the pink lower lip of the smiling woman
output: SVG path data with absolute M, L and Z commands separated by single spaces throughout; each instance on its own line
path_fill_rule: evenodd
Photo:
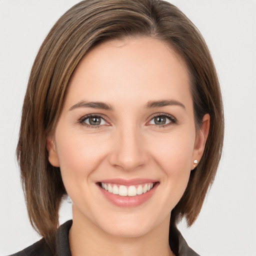
M 105 198 L 116 206 L 120 207 L 135 207 L 146 202 L 155 192 L 158 182 L 154 184 L 153 188 L 143 194 L 137 194 L 135 196 L 121 196 L 118 194 L 109 193 L 101 186 L 98 186 Z

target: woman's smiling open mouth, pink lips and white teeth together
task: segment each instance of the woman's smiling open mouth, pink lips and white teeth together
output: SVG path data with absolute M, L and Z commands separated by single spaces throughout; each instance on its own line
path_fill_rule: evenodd
M 110 203 L 119 207 L 134 207 L 151 198 L 159 185 L 155 180 L 122 179 L 102 180 L 97 182 L 100 192 Z

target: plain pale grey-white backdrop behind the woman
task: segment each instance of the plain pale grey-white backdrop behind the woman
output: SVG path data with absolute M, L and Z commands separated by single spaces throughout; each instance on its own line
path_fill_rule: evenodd
M 15 161 L 29 71 L 47 32 L 78 0 L 0 0 L 0 255 L 39 236 L 31 228 Z M 225 111 L 223 156 L 187 243 L 203 256 L 256 255 L 256 1 L 170 0 L 212 53 Z M 64 202 L 60 223 L 71 218 Z

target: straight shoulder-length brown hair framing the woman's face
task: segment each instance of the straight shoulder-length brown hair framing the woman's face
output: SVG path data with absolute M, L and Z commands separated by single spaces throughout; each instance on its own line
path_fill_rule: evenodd
M 58 209 L 66 194 L 59 167 L 48 161 L 46 137 L 54 131 L 72 73 L 95 45 L 148 36 L 167 42 L 186 64 L 195 126 L 210 115 L 209 135 L 199 164 L 171 212 L 170 230 L 185 217 L 196 219 L 212 184 L 223 143 L 219 82 L 209 50 L 193 23 L 163 0 L 85 0 L 66 11 L 44 39 L 34 60 L 24 97 L 17 159 L 30 222 L 54 248 Z

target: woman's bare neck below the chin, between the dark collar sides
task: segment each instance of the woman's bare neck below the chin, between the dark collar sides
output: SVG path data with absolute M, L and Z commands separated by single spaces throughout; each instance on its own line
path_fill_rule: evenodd
M 78 214 L 79 215 L 79 214 Z M 69 231 L 72 256 L 172 256 L 169 247 L 169 218 L 153 230 L 136 237 L 113 236 L 73 211 L 73 224 Z

